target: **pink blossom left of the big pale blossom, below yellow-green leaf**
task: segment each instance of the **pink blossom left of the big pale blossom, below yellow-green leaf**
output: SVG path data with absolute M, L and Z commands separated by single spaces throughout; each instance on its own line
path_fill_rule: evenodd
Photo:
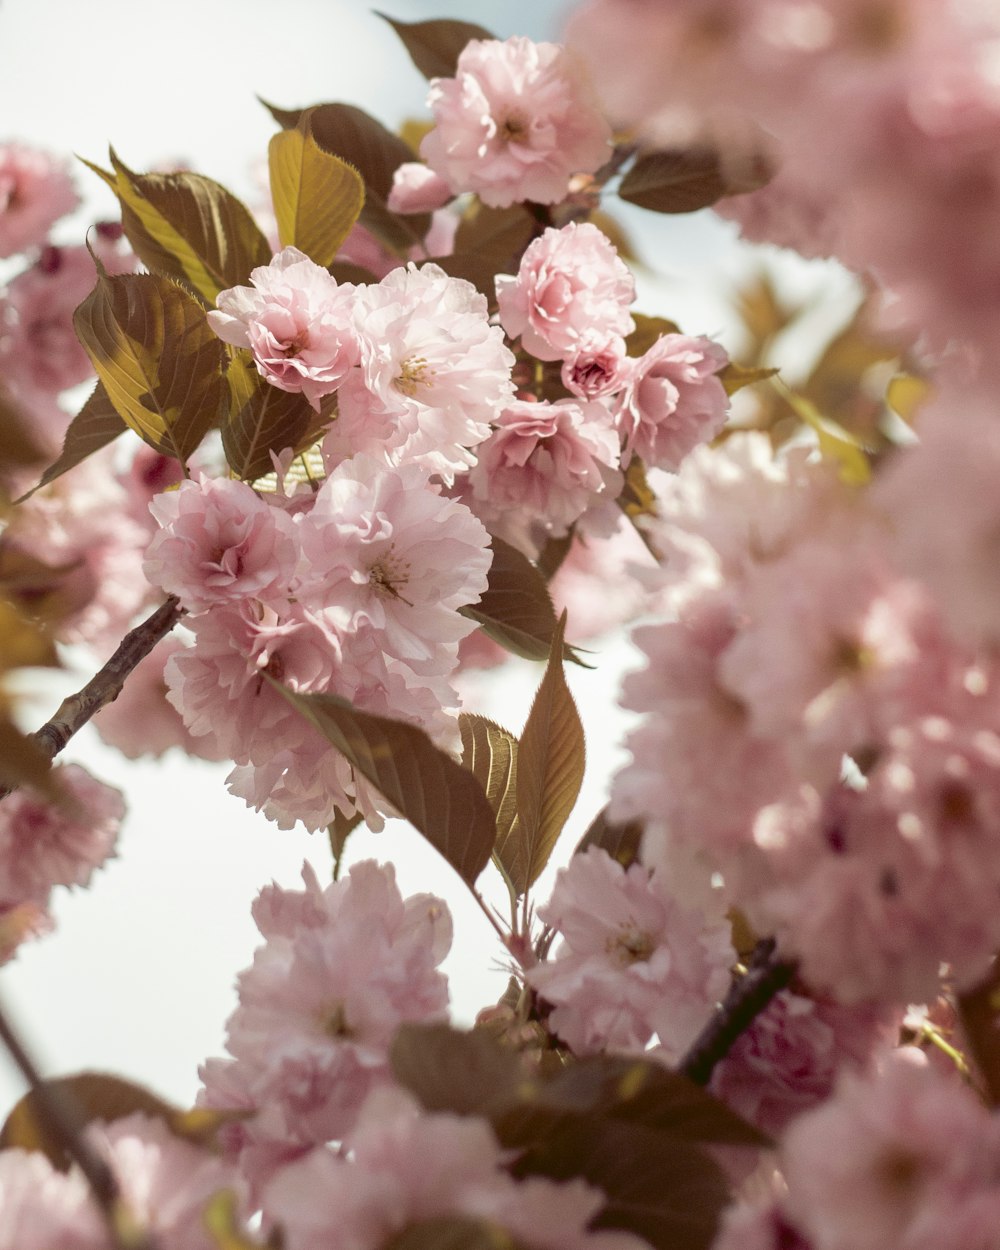
M 298 248 L 250 274 L 252 286 L 220 291 L 209 322 L 225 342 L 249 348 L 261 378 L 301 391 L 319 411 L 358 364 L 354 286 L 339 285 Z

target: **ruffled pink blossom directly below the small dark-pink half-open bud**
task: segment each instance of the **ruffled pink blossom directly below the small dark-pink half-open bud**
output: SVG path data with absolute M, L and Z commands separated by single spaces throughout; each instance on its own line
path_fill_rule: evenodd
M 469 485 L 491 531 L 535 555 L 600 496 L 618 496 L 618 432 L 601 402 L 516 401 L 479 449 Z

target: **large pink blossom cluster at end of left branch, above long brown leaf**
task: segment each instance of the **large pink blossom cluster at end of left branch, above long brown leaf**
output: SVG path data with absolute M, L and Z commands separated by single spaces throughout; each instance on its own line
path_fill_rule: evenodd
M 188 609 L 194 645 L 165 668 L 170 701 L 231 786 L 282 825 L 364 808 L 346 760 L 278 684 L 336 694 L 451 745 L 449 679 L 486 588 L 489 535 L 419 465 L 355 456 L 315 492 L 259 496 L 200 478 L 156 498 L 146 575 Z M 269 680 L 271 679 L 271 680 Z

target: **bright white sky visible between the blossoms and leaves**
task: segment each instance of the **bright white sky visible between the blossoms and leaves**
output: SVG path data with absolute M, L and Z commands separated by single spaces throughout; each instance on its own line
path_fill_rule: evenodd
M 556 34 L 565 6 L 381 0 L 381 8 L 406 21 L 464 18 L 500 36 L 541 39 Z M 0 0 L 0 140 L 98 164 L 106 164 L 110 142 L 132 169 L 182 160 L 245 198 L 274 131 L 255 96 L 284 106 L 344 100 L 394 126 L 422 115 L 425 91 L 391 29 L 355 0 Z M 96 184 L 81 168 L 81 188 L 114 215 Z M 738 345 L 728 339 L 734 321 L 725 292 L 751 261 L 731 228 L 710 214 L 656 218 L 622 208 L 614 211 L 656 270 L 640 276 L 639 308 Z M 826 266 L 785 271 L 802 295 L 831 280 Z M 622 759 L 612 744 L 625 716 L 612 704 L 626 655 L 621 642 L 610 644 L 595 656 L 596 671 L 569 674 L 590 762 L 566 854 Z M 540 675 L 514 661 L 500 681 L 484 680 L 484 702 L 472 710 L 519 731 Z M 89 676 L 80 674 L 78 685 Z M 55 691 L 42 699 L 36 720 L 56 702 Z M 294 885 L 306 856 L 326 880 L 329 849 L 321 835 L 281 831 L 249 812 L 225 791 L 224 768 L 179 752 L 130 764 L 89 731 L 65 758 L 126 791 L 120 858 L 91 889 L 59 891 L 56 932 L 0 970 L 0 995 L 48 1072 L 116 1071 L 189 1101 L 196 1065 L 221 1052 L 234 978 L 258 944 L 250 901 L 271 879 Z M 505 985 L 500 971 L 486 975 L 502 954 L 486 921 L 409 826 L 355 835 L 352 856 L 368 855 L 396 862 L 404 892 L 435 890 L 449 900 L 452 998 L 456 1015 L 470 1021 Z M 0 1118 L 21 1089 L 0 1056 Z

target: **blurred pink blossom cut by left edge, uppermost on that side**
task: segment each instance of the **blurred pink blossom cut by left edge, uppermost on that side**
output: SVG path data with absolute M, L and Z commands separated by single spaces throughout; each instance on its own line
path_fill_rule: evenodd
M 79 199 L 65 161 L 22 144 L 0 144 L 0 259 L 42 244 Z

